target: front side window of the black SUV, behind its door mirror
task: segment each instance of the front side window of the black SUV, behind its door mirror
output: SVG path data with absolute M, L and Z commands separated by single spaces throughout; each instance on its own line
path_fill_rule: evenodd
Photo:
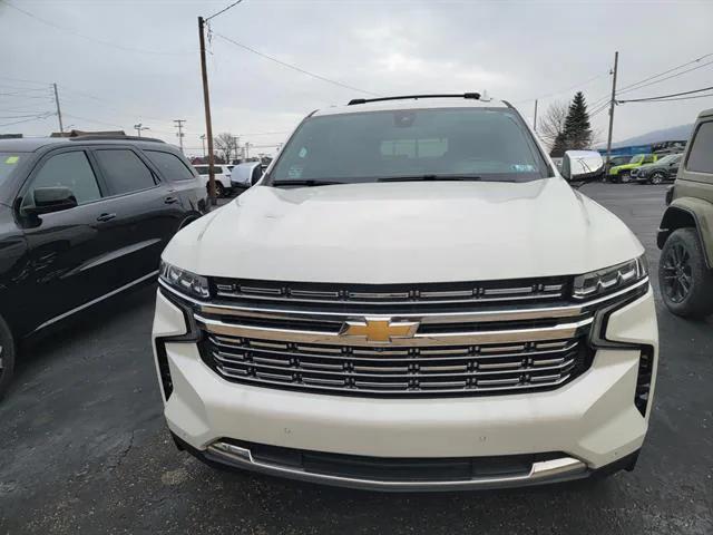
M 86 204 L 101 197 L 97 177 L 84 150 L 61 153 L 50 157 L 35 175 L 25 195 L 22 206 L 33 204 L 33 192 L 38 187 L 65 186 L 71 189 L 77 204 Z

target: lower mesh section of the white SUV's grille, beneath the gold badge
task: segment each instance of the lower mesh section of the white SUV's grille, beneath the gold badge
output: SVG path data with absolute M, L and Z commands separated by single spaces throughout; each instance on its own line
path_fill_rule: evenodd
M 227 380 L 352 395 L 478 395 L 557 387 L 589 362 L 583 338 L 422 348 L 275 342 L 207 334 L 204 361 Z

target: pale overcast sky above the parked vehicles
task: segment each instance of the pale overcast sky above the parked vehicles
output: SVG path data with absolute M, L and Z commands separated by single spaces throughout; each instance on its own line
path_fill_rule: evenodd
M 144 135 L 177 143 L 173 119 L 186 119 L 186 153 L 199 154 L 205 121 L 196 18 L 231 2 L 0 0 L 0 125 L 7 125 L 0 133 L 57 129 L 56 116 L 8 125 L 52 113 L 48 84 L 56 81 L 66 126 L 128 133 L 143 123 L 150 127 Z M 576 89 L 592 104 L 604 101 L 615 50 L 619 87 L 713 52 L 712 21 L 711 0 L 243 0 L 211 23 L 214 133 L 271 145 L 312 109 L 364 96 L 219 36 L 363 91 L 485 89 L 531 118 L 536 97 L 540 113 Z M 627 96 L 697 89 L 712 81 L 713 65 Z M 691 123 L 710 107 L 713 97 L 618 106 L 614 140 Z M 593 124 L 604 138 L 606 113 Z

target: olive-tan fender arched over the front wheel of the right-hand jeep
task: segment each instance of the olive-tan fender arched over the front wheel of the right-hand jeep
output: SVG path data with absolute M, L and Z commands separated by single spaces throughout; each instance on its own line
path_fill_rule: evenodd
M 676 228 L 695 226 L 703 245 L 706 265 L 713 268 L 713 204 L 696 197 L 675 198 L 664 212 L 658 228 L 658 247 Z

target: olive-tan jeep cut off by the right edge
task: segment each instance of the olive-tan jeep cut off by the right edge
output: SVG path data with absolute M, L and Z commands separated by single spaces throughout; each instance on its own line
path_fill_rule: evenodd
M 713 313 L 713 109 L 702 111 L 666 193 L 658 228 L 658 281 L 668 310 L 684 318 Z

